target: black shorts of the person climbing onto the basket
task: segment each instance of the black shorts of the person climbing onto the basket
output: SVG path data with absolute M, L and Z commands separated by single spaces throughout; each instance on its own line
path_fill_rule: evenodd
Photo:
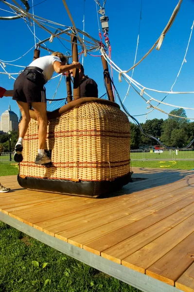
M 13 98 L 26 103 L 46 102 L 46 89 L 44 85 L 37 85 L 26 78 L 24 73 L 19 74 L 14 83 Z

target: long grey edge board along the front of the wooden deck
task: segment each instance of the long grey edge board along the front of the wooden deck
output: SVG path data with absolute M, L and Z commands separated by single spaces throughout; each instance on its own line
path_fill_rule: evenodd
M 0 220 L 18 229 L 19 231 L 53 247 L 54 249 L 71 256 L 85 264 L 117 278 L 143 292 L 181 292 L 176 287 L 169 286 L 159 280 L 124 267 L 102 256 L 97 256 L 68 242 L 52 237 L 34 227 L 0 212 Z

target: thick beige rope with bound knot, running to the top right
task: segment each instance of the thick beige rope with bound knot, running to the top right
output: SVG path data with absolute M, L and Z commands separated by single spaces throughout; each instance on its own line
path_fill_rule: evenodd
M 158 47 L 157 50 L 160 49 L 161 43 L 163 41 L 162 38 L 164 38 L 165 34 L 169 31 L 170 27 L 172 26 L 172 24 L 173 24 L 173 22 L 174 22 L 174 20 L 176 18 L 176 15 L 177 15 L 177 13 L 178 13 L 178 11 L 180 9 L 181 3 L 182 3 L 182 0 L 179 0 L 178 4 L 175 7 L 175 10 L 173 11 L 173 14 L 172 14 L 171 18 L 169 19 L 169 21 L 168 21 L 166 27 L 164 28 L 164 30 L 162 31 L 161 36 L 157 39 L 157 41 L 152 46 L 152 48 L 141 58 L 141 60 L 138 63 L 136 63 L 135 65 L 133 65 L 129 70 L 122 71 L 122 72 L 119 73 L 119 81 L 120 82 L 121 82 L 121 75 L 122 75 L 122 73 L 128 73 L 130 70 L 132 70 L 133 68 L 135 68 L 136 66 L 138 66 L 142 62 L 142 60 L 144 60 L 147 57 L 147 55 L 149 55 L 154 50 L 154 48 L 159 43 L 159 41 L 160 41 L 160 45 L 159 45 L 159 47 Z

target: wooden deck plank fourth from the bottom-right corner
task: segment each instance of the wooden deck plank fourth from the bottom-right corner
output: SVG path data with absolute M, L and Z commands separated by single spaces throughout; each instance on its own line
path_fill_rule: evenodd
M 168 230 L 178 225 L 183 220 L 194 214 L 194 203 L 175 214 L 159 221 L 158 223 L 146 228 L 142 232 L 123 240 L 121 243 L 105 250 L 101 256 L 121 264 L 123 258 L 130 256 L 146 244 L 152 242 Z M 96 250 L 98 246 L 96 246 Z

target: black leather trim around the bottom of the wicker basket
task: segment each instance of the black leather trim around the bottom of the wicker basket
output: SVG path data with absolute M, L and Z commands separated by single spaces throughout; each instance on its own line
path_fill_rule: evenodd
M 23 188 L 38 191 L 57 192 L 78 196 L 100 196 L 122 188 L 123 185 L 131 181 L 131 173 L 117 178 L 114 181 L 101 182 L 71 182 L 67 180 L 39 179 L 32 177 L 21 178 L 18 175 L 18 183 Z

